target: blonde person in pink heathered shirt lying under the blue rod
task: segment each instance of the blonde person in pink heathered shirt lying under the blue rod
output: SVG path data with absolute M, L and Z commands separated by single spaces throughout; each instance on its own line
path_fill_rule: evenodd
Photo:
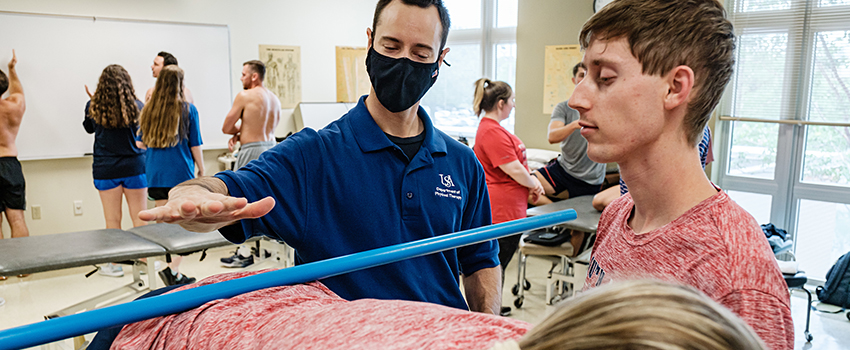
M 262 272 L 262 271 L 260 271 Z M 253 275 L 216 275 L 181 289 Z M 523 337 L 523 335 L 525 335 Z M 320 282 L 214 300 L 127 325 L 112 349 L 763 349 L 737 316 L 690 287 L 612 283 L 543 322 L 404 300 L 346 301 Z

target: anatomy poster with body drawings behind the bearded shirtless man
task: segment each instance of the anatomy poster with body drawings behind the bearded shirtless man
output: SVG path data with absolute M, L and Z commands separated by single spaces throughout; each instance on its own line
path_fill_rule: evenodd
M 301 48 L 260 45 L 260 61 L 266 65 L 266 88 L 280 99 L 280 108 L 301 102 Z

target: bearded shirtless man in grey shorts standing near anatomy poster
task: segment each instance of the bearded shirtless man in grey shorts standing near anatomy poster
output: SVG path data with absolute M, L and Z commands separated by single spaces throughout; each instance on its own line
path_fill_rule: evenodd
M 265 74 L 266 67 L 261 61 L 252 60 L 242 65 L 240 80 L 245 90 L 236 95 L 233 108 L 221 127 L 222 132 L 233 135 L 228 142 L 231 151 L 236 141 L 242 144 L 234 169 L 259 158 L 263 151 L 275 145 L 274 130 L 280 121 L 280 100 L 263 86 Z M 240 119 L 242 123 L 237 123 Z

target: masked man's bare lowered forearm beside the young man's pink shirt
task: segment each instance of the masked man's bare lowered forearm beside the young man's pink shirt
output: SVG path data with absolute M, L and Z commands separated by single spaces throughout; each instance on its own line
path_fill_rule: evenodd
M 502 267 L 481 269 L 463 276 L 469 310 L 498 315 L 502 306 Z

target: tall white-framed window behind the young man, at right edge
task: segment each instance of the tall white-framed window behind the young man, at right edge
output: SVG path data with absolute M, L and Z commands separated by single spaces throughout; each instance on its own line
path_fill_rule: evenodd
M 823 280 L 850 251 L 850 0 L 727 10 L 738 45 L 719 183 L 759 223 L 792 233 L 801 268 Z

